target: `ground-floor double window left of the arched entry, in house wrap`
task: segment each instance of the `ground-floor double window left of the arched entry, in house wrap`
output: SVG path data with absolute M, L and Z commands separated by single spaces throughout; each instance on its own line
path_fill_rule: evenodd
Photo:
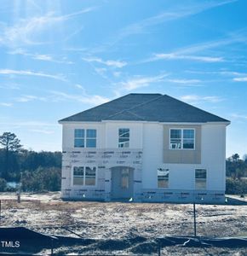
M 73 185 L 95 186 L 96 167 L 74 166 L 73 167 Z

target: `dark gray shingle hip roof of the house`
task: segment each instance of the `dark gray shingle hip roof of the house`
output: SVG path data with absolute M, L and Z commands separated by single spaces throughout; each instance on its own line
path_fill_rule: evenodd
M 171 96 L 131 93 L 95 108 L 76 113 L 60 122 L 102 120 L 155 121 L 171 123 L 229 122 Z

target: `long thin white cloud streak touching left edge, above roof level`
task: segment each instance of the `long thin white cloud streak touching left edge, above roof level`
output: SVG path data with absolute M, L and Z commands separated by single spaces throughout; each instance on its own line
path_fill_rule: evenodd
M 43 77 L 48 79 L 56 79 L 63 82 L 67 82 L 66 78 L 63 75 L 52 75 L 49 73 L 40 73 L 40 72 L 33 72 L 29 70 L 14 70 L 14 69 L 0 69 L 0 74 L 3 75 L 23 75 L 23 76 L 36 76 L 36 77 Z

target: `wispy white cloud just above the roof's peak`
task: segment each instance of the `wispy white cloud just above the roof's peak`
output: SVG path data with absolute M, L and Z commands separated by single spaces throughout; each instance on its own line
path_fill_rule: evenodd
M 167 75 L 168 74 L 160 74 L 158 76 L 153 76 L 153 77 L 136 76 L 127 81 L 120 82 L 118 84 L 118 87 L 124 90 L 135 90 L 141 87 L 149 86 L 152 83 L 162 82 L 164 81 L 164 77 L 166 77 Z

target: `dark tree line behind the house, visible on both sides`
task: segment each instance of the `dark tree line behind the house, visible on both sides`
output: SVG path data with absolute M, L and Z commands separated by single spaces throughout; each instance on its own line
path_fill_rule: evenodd
M 227 194 L 247 194 L 247 154 L 226 160 Z M 22 147 L 14 133 L 0 136 L 0 191 L 8 182 L 21 183 L 24 191 L 60 190 L 61 153 L 35 152 Z

